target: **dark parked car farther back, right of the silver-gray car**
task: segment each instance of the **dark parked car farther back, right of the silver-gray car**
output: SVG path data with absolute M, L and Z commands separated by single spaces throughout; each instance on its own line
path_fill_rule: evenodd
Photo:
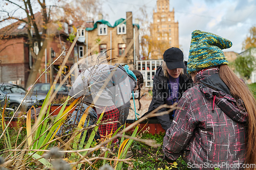
M 59 84 L 57 83 L 55 85 L 55 88 L 54 88 L 54 91 L 58 88 Z M 31 87 L 28 88 L 28 90 L 30 89 Z M 51 85 L 50 83 L 37 83 L 35 84 L 31 91 L 33 94 L 37 95 L 37 94 L 44 94 L 46 95 L 48 93 L 48 91 L 50 90 L 51 88 Z M 69 88 L 66 86 L 66 85 L 62 85 L 60 87 L 60 89 L 58 90 L 57 92 L 57 95 L 64 95 L 64 96 L 68 96 L 69 94 Z

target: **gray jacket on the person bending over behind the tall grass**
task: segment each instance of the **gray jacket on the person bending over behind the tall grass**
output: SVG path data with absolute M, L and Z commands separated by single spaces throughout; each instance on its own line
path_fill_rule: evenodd
M 119 110 L 119 122 L 124 124 L 129 114 L 131 92 L 137 81 L 119 65 L 95 65 L 83 71 L 75 80 L 69 95 L 96 106 L 113 106 Z M 97 114 L 101 109 L 96 108 Z

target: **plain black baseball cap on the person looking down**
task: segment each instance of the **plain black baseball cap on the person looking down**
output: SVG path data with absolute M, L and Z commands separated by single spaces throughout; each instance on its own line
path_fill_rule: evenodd
M 172 47 L 166 50 L 163 54 L 168 69 L 184 68 L 183 53 L 179 48 Z

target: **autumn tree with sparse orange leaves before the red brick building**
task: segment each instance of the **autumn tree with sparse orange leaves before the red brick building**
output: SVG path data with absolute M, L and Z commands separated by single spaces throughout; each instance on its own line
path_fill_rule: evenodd
M 100 9 L 99 0 L 72 0 L 72 1 L 46 1 L 46 0 L 4 0 L 0 3 L 2 10 L 0 10 L 0 24 L 8 25 L 15 21 L 26 23 L 28 41 L 25 42 L 29 45 L 32 52 L 33 65 L 29 72 L 29 77 L 26 86 L 33 84 L 38 75 L 38 70 L 41 65 L 42 57 L 44 56 L 45 48 L 47 47 L 47 40 L 54 35 L 49 34 L 48 30 L 52 24 L 62 20 L 87 20 L 90 16 Z M 41 21 L 35 19 L 35 14 L 40 12 Z M 26 18 L 26 19 L 24 19 Z M 11 28 L 6 27 L 6 33 L 1 32 L 1 38 L 8 38 L 8 30 Z M 31 34 L 33 29 L 33 34 Z M 52 28 L 54 29 L 54 28 Z M 2 29 L 3 30 L 3 29 Z M 34 53 L 34 42 L 37 42 L 39 52 Z M 4 45 L 4 44 L 2 44 Z

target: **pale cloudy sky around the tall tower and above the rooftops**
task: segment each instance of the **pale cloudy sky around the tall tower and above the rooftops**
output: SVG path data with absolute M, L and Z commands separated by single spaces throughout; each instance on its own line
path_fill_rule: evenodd
M 157 0 L 102 0 L 103 19 L 114 25 L 115 20 L 126 18 L 127 11 L 133 19 L 141 17 L 140 8 L 146 9 L 151 20 Z M 242 52 L 242 42 L 249 29 L 256 25 L 255 0 L 170 0 L 170 10 L 175 10 L 179 22 L 179 44 L 187 59 L 191 32 L 212 32 L 232 41 L 224 51 Z

